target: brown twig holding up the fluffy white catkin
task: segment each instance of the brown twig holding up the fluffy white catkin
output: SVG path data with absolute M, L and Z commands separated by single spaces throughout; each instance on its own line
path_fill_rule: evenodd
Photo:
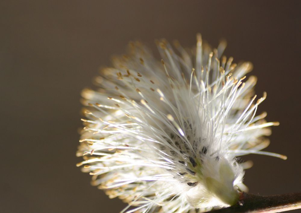
M 259 196 L 241 193 L 240 200 L 236 205 L 210 211 L 210 213 L 233 213 L 233 212 L 281 212 L 301 208 L 301 193 L 290 193 L 274 196 Z

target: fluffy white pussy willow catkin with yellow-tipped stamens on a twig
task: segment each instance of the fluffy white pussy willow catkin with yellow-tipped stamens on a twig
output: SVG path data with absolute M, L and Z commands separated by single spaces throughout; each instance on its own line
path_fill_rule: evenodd
M 202 212 L 235 204 L 243 184 L 239 156 L 268 146 L 265 100 L 254 95 L 250 62 L 232 63 L 197 35 L 193 49 L 157 41 L 162 60 L 140 42 L 101 70 L 82 92 L 78 156 L 92 185 L 128 203 L 122 212 Z

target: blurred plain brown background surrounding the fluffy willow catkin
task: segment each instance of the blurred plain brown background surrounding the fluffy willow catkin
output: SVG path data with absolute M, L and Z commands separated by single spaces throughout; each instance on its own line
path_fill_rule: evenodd
M 1 1 L 0 17 L 0 212 L 119 212 L 75 167 L 80 91 L 128 41 L 190 47 L 197 32 L 253 62 L 259 112 L 281 124 L 266 150 L 288 159 L 246 157 L 250 192 L 301 191 L 300 1 Z

